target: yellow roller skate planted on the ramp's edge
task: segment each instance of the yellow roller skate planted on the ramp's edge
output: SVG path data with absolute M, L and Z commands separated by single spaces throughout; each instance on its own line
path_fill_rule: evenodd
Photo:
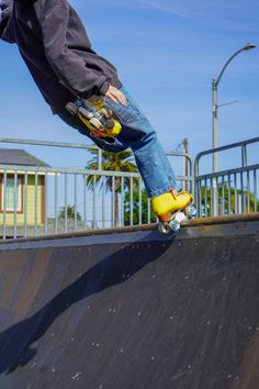
M 151 199 L 153 210 L 159 219 L 158 231 L 167 234 L 177 232 L 184 220 L 195 218 L 193 197 L 187 191 L 169 191 Z

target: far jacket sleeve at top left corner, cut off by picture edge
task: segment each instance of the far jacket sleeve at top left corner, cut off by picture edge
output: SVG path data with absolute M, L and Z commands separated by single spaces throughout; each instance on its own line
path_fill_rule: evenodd
M 13 0 L 3 0 L 0 3 L 0 38 L 8 43 L 15 43 L 11 29 Z

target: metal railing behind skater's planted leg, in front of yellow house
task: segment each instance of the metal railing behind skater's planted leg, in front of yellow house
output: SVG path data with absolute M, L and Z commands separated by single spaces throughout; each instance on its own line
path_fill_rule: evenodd
M 102 151 L 97 146 L 5 137 L 0 137 L 1 143 L 97 151 L 97 169 L 0 165 L 0 236 L 3 240 L 156 221 L 140 176 L 103 170 Z M 189 176 L 176 178 L 179 186 L 193 191 L 192 158 L 173 152 L 168 156 L 187 160 Z

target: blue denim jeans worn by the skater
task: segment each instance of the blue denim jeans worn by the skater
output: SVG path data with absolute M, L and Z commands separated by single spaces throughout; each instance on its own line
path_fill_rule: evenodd
M 127 98 L 126 107 L 105 98 L 106 104 L 116 114 L 122 125 L 122 131 L 115 138 L 105 141 L 105 138 L 92 136 L 83 123 L 67 111 L 59 113 L 59 116 L 106 152 L 117 153 L 131 147 L 148 197 L 166 193 L 176 187 L 174 173 L 167 155 L 157 138 L 156 131 L 138 104 L 124 87 L 120 90 Z

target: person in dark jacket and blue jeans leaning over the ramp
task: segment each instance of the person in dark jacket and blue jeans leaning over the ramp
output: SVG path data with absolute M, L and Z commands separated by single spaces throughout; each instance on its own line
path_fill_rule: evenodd
M 158 218 L 167 222 L 174 210 L 191 202 L 177 192 L 176 177 L 156 131 L 119 78 L 116 68 L 97 54 L 76 10 L 67 0 L 2 0 L 0 37 L 16 44 L 36 86 L 54 114 L 100 148 L 116 153 L 132 148 Z M 103 97 L 122 131 L 97 137 L 66 105 L 75 98 Z

